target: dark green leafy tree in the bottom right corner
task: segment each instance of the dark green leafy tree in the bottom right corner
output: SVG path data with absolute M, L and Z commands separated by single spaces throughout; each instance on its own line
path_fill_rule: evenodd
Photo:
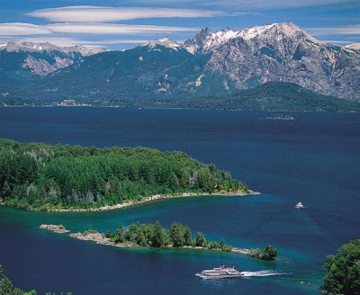
M 360 239 L 340 246 L 336 255 L 325 262 L 328 273 L 324 277 L 326 294 L 360 294 Z

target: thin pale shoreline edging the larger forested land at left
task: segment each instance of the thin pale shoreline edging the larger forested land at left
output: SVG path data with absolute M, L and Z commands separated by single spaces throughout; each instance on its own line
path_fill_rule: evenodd
M 74 208 L 74 209 L 52 209 L 52 210 L 40 210 L 40 209 L 26 209 L 29 211 L 43 211 L 43 212 L 102 212 L 102 211 L 111 211 L 111 210 L 121 210 L 127 209 L 130 207 L 138 206 L 145 203 L 150 203 L 152 201 L 161 201 L 161 200 L 170 200 L 170 199 L 183 199 L 183 198 L 192 198 L 192 197 L 246 197 L 246 196 L 257 196 L 260 195 L 260 192 L 253 192 L 249 190 L 249 192 L 184 192 L 180 194 L 168 195 L 168 194 L 155 194 L 150 197 L 143 198 L 139 201 L 126 201 L 123 203 L 108 205 L 99 208 Z M 2 206 L 6 206 L 6 204 L 1 203 Z M 10 207 L 10 206 L 8 206 Z M 14 207 L 13 207 L 14 208 Z M 20 208 L 14 208 L 20 209 Z M 21 210 L 21 209 L 20 209 Z

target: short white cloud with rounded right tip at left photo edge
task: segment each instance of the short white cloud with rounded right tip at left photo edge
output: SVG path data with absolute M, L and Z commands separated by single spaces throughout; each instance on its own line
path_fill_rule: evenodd
M 21 36 L 21 35 L 40 35 L 51 34 L 47 28 L 40 25 L 23 22 L 0 23 L 0 35 L 2 36 Z

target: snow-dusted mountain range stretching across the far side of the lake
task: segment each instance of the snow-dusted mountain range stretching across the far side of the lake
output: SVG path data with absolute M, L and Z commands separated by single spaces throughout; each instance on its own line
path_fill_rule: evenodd
M 0 103 L 6 105 L 73 100 L 157 106 L 159 101 L 197 98 L 216 98 L 225 105 L 231 98 L 244 106 L 246 94 L 257 94 L 256 99 L 266 89 L 270 95 L 276 85 L 273 98 L 287 97 L 278 91 L 284 89 L 293 91 L 294 99 L 306 93 L 321 102 L 338 99 L 348 107 L 357 105 L 348 101 L 360 101 L 359 81 L 359 44 L 341 47 L 316 40 L 293 23 L 240 31 L 204 28 L 181 43 L 162 38 L 123 51 L 30 42 L 0 45 Z M 258 109 L 272 109 L 270 102 L 274 100 L 265 99 Z

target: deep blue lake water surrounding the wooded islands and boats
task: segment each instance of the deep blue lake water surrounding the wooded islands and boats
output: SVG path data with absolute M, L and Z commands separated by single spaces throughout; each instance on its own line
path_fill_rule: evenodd
M 0 208 L 0 263 L 23 289 L 74 294 L 319 293 L 327 254 L 360 236 L 360 115 L 266 112 L 0 108 L 0 137 L 23 142 L 183 150 L 229 170 L 259 197 L 159 201 L 130 210 L 55 214 Z M 294 210 L 298 202 L 307 207 Z M 120 250 L 38 229 L 82 230 L 174 220 L 234 246 L 280 251 L 275 262 L 194 251 Z M 285 275 L 203 282 L 193 273 L 220 264 Z M 302 283 L 305 282 L 305 283 Z

